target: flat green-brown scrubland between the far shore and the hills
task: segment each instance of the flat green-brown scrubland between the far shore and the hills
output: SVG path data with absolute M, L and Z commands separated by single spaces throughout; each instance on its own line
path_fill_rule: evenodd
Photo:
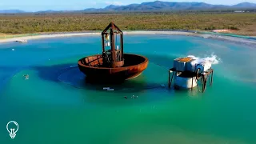
M 0 33 L 29 34 L 103 30 L 115 22 L 122 30 L 216 30 L 256 35 L 256 14 L 128 13 L 128 14 L 19 14 L 0 15 Z

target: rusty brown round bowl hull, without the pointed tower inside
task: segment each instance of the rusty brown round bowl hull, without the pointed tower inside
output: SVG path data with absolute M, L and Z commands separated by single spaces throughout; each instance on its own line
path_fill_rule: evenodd
M 149 63 L 146 57 L 137 54 L 124 54 L 124 58 L 126 62 L 121 67 L 104 67 L 102 55 L 98 54 L 79 59 L 78 67 L 92 80 L 123 81 L 138 77 Z

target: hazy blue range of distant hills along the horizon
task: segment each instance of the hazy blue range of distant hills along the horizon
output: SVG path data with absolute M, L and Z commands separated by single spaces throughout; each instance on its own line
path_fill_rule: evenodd
M 162 2 L 162 1 L 155 1 L 155 2 L 143 2 L 141 4 L 130 4 L 127 6 L 115 6 L 110 5 L 106 6 L 105 8 L 95 9 L 89 8 L 85 10 L 77 10 L 77 11 L 84 11 L 84 12 L 107 12 L 107 11 L 161 11 L 161 10 L 239 10 L 239 9 L 256 9 L 255 3 L 250 2 L 242 2 L 238 3 L 234 6 L 225 6 L 225 5 L 211 5 L 205 2 Z M 35 13 L 65 13 L 65 12 L 75 12 L 74 10 L 44 10 L 38 11 Z M 1 13 L 25 13 L 22 10 L 0 10 Z

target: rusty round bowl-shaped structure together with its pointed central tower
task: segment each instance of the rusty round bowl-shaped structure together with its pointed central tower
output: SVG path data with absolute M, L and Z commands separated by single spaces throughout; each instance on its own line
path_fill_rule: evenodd
M 108 29 L 110 32 L 107 31 Z M 114 41 L 117 34 L 120 34 L 120 47 L 116 46 Z M 103 30 L 102 54 L 78 60 L 79 70 L 86 74 L 87 79 L 95 82 L 117 82 L 136 78 L 146 70 L 149 60 L 138 54 L 124 54 L 122 38 L 122 31 L 113 22 Z M 106 50 L 107 47 L 110 50 Z

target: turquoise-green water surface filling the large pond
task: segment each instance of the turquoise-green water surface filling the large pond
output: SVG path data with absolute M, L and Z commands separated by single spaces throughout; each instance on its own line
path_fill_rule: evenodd
M 86 84 L 76 67 L 78 58 L 101 53 L 98 36 L 1 44 L 0 143 L 256 143 L 256 46 L 168 35 L 124 42 L 126 53 L 150 64 L 114 91 Z M 221 62 L 204 94 L 161 86 L 174 58 L 213 53 Z M 14 139 L 11 120 L 19 124 Z

